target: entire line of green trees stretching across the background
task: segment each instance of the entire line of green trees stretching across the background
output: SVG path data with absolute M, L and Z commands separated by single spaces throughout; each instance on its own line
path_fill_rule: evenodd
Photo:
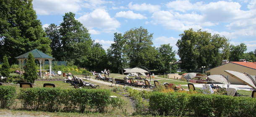
M 230 45 L 225 36 L 192 28 L 179 35 L 178 51 L 170 44 L 153 46 L 153 33 L 143 27 L 131 28 L 123 34 L 114 33 L 114 43 L 105 51 L 76 20 L 74 13 L 65 13 L 60 25 L 50 24 L 43 30 L 32 0 L 0 0 L 0 4 L 0 57 L 7 56 L 10 64 L 17 64 L 15 57 L 36 48 L 54 57 L 55 61 L 67 61 L 92 71 L 108 68 L 115 73 L 136 66 L 175 73 L 178 67 L 187 71 L 201 66 L 213 68 L 223 59 L 256 61 L 256 50 L 245 53 L 244 43 Z M 176 64 L 176 53 L 180 64 Z

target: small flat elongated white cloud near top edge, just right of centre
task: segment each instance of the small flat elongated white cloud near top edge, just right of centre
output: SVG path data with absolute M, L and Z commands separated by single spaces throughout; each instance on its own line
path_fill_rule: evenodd
M 128 4 L 128 7 L 132 10 L 148 10 L 149 12 L 155 12 L 160 10 L 160 5 L 151 5 L 151 4 L 133 4 L 132 2 Z

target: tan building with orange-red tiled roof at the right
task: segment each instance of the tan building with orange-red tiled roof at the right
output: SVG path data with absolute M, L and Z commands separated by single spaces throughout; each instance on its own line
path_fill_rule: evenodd
M 254 62 L 247 62 L 245 59 L 241 59 L 239 62 L 230 62 L 230 61 L 223 61 L 221 66 L 214 67 L 212 69 L 209 69 L 206 71 L 207 75 L 220 75 L 223 74 L 224 76 L 228 76 L 228 80 L 231 84 L 243 84 L 242 82 L 238 81 L 237 79 L 233 78 L 232 76 L 228 75 L 224 70 L 230 70 L 230 71 L 237 71 L 247 74 L 250 74 L 251 76 L 256 75 L 256 63 Z M 254 77 L 253 77 L 254 78 Z

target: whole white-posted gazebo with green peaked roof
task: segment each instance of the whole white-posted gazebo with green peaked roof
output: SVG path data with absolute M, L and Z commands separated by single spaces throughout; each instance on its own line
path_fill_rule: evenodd
M 40 63 L 40 78 L 42 77 L 42 63 L 43 63 L 43 66 L 44 66 L 44 61 L 45 60 L 49 60 L 49 64 L 50 64 L 50 77 L 52 77 L 52 60 L 54 59 L 53 57 L 37 50 L 37 49 L 34 49 L 32 51 L 29 51 L 27 53 L 24 53 L 18 57 L 15 57 L 18 59 L 19 61 L 19 65 L 20 65 L 20 71 L 21 71 L 21 67 L 22 67 L 22 71 L 23 71 L 23 65 L 24 65 L 24 61 L 27 60 L 28 56 L 29 56 L 29 53 L 32 53 L 32 55 L 34 56 L 35 60 L 38 59 L 39 60 L 39 63 Z M 20 75 L 21 75 L 21 72 L 20 72 Z

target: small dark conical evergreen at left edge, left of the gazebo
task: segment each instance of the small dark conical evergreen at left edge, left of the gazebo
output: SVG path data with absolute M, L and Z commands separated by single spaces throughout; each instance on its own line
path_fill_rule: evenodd
M 6 56 L 3 57 L 3 65 L 0 71 L 3 77 L 10 77 L 10 65 Z

